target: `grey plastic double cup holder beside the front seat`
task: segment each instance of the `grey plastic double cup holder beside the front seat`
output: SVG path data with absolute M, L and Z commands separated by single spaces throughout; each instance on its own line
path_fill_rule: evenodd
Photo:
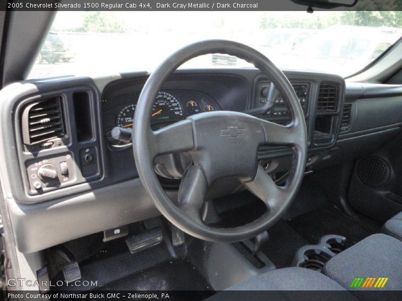
M 293 258 L 292 266 L 321 272 L 328 260 L 346 249 L 345 242 L 346 238 L 343 236 L 326 235 L 316 245 L 299 248 Z

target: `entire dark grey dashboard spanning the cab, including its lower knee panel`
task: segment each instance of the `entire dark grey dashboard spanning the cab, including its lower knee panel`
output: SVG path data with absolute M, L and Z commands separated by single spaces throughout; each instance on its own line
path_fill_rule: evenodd
M 399 85 L 284 73 L 305 115 L 306 172 L 370 154 L 401 132 Z M 0 173 L 2 179 L 13 179 L 3 185 L 21 252 L 159 214 L 138 178 L 130 143 L 111 136 L 116 126 L 135 126 L 136 104 L 148 76 L 138 72 L 30 80 L 2 90 L 0 160 L 5 168 Z M 269 91 L 274 104 L 258 115 Z M 150 126 L 158 129 L 213 110 L 254 112 L 279 124 L 292 118 L 287 99 L 259 70 L 179 70 L 154 100 Z M 291 163 L 292 149 L 261 145 L 258 160 L 267 173 L 280 174 Z M 166 193 L 174 201 L 178 181 L 172 182 Z M 227 181 L 213 191 L 222 195 L 238 188 L 239 183 Z M 82 220 L 99 222 L 82 227 Z

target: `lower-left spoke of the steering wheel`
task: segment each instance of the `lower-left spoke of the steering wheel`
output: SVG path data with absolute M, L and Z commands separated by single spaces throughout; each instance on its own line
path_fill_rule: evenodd
M 201 210 L 207 188 L 204 172 L 198 166 L 191 165 L 181 180 L 177 207 L 193 221 L 202 222 Z

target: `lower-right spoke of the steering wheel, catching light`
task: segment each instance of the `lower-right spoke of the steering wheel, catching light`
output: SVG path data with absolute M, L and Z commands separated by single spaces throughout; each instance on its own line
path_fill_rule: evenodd
M 286 188 L 276 185 L 261 165 L 258 165 L 254 180 L 244 183 L 244 186 L 262 200 L 270 211 L 275 211 L 281 200 L 287 197 Z

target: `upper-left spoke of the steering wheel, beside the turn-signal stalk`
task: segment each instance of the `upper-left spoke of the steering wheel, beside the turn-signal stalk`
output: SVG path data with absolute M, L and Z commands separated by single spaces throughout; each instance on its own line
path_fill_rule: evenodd
M 194 148 L 192 123 L 183 120 L 150 132 L 152 156 L 187 152 Z

